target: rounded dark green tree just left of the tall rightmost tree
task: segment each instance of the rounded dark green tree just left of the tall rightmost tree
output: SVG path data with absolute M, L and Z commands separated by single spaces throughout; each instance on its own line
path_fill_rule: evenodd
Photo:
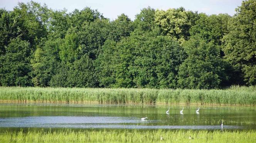
M 200 38 L 191 38 L 185 43 L 188 58 L 179 69 L 181 88 L 220 88 L 222 80 L 228 78 L 219 47 L 213 42 L 206 43 Z

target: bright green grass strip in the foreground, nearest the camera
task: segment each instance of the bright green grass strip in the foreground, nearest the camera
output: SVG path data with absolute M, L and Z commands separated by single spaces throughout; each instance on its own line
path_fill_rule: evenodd
M 164 140 L 160 140 L 160 136 Z M 194 139 L 189 139 L 191 136 Z M 0 142 L 133 142 L 133 143 L 151 143 L 151 142 L 173 142 L 173 143 L 255 143 L 256 131 L 163 131 L 163 130 L 111 130 L 111 131 L 29 131 L 23 133 L 5 132 L 0 134 Z

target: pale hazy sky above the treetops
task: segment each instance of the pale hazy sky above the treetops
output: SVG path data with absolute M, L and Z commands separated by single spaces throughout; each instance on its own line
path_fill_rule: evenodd
M 0 0 L 0 8 L 13 10 L 18 2 L 27 3 L 30 0 Z M 97 9 L 103 16 L 115 20 L 118 15 L 125 13 L 131 20 L 140 13 L 142 8 L 150 6 L 154 9 L 167 10 L 169 8 L 184 7 L 185 10 L 198 11 L 207 15 L 227 13 L 234 15 L 235 8 L 241 5 L 242 0 L 33 0 L 46 4 L 53 10 L 67 9 L 72 12 L 74 9 L 82 10 L 84 7 Z

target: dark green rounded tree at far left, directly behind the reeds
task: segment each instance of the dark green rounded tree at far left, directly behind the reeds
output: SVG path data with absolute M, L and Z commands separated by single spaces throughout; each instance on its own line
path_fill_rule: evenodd
M 30 45 L 15 38 L 6 47 L 6 54 L 0 57 L 1 86 L 31 86 L 29 64 Z

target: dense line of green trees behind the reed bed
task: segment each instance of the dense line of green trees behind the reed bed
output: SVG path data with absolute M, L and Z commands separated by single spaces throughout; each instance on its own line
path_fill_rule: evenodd
M 134 21 L 0 9 L 0 86 L 223 88 L 256 85 L 256 1 L 236 14 L 143 8 Z

